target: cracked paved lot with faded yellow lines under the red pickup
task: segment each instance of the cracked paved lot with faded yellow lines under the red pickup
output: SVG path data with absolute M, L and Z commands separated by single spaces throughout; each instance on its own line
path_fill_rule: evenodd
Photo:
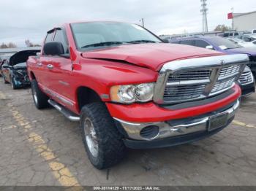
M 209 139 L 167 149 L 129 150 L 98 171 L 78 123 L 39 111 L 31 90 L 0 83 L 0 185 L 256 185 L 256 94 L 236 120 Z

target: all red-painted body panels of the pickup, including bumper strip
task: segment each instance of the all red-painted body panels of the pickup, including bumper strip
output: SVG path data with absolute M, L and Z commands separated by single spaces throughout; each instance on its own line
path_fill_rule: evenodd
M 140 84 L 156 82 L 158 71 L 168 61 L 222 55 L 213 50 L 190 47 L 179 44 L 127 44 L 102 50 L 80 52 L 75 47 L 75 40 L 69 24 L 65 24 L 69 43 L 70 58 L 40 56 L 30 57 L 27 61 L 30 79 L 34 77 L 43 91 L 65 98 L 73 104 L 67 104 L 55 99 L 76 114 L 80 113 L 78 107 L 78 88 L 89 87 L 99 96 L 109 95 L 113 85 Z M 105 58 L 110 61 L 94 59 Z M 115 61 L 116 60 L 116 61 Z M 39 66 L 38 63 L 42 63 Z M 47 65 L 53 65 L 48 69 Z M 241 90 L 238 86 L 232 95 L 212 104 L 187 109 L 163 109 L 153 102 L 147 104 L 122 105 L 110 103 L 109 98 L 102 99 L 107 102 L 110 114 L 121 120 L 130 122 L 154 122 L 184 117 L 192 117 L 214 111 L 238 99 Z

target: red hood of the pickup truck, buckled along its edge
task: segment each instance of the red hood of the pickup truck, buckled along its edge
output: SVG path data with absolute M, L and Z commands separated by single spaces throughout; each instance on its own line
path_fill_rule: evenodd
M 126 44 L 83 52 L 83 58 L 123 61 L 159 71 L 169 61 L 222 55 L 221 52 L 181 44 L 150 43 Z

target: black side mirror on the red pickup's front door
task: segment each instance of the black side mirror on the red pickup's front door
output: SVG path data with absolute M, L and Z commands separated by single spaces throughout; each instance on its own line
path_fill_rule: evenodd
M 61 42 L 47 42 L 43 47 L 45 55 L 62 55 L 64 48 Z

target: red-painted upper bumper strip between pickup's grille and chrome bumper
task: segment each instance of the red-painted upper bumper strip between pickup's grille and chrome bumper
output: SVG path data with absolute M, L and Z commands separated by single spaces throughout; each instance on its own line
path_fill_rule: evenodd
M 220 109 L 223 106 L 236 101 L 241 95 L 241 89 L 238 85 L 233 87 L 233 90 L 235 90 L 235 93 L 222 100 L 186 109 L 164 109 L 153 102 L 147 104 L 132 104 L 129 106 L 108 103 L 107 106 L 111 116 L 121 120 L 128 122 L 162 122 L 166 120 L 193 117 Z

